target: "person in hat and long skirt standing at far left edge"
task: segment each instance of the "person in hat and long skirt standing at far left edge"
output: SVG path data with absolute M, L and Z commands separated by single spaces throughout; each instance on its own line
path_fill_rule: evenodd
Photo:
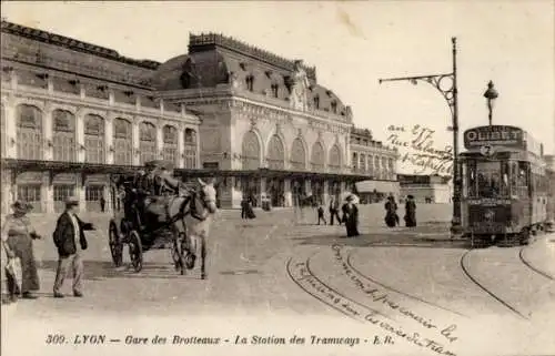
M 31 205 L 17 201 L 11 207 L 13 214 L 6 216 L 2 224 L 2 245 L 8 256 L 7 265 L 7 283 L 10 299 L 16 302 L 19 293 L 27 299 L 34 299 L 34 292 L 39 291 L 39 273 L 37 271 L 37 262 L 34 261 L 32 241 L 41 238 L 34 231 L 27 213 L 31 210 Z M 13 258 L 21 261 L 21 291 L 14 275 Z

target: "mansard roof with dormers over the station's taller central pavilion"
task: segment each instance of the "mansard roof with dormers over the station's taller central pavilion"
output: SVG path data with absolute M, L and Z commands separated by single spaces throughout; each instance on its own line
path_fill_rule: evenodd
M 301 67 L 310 82 L 309 104 L 313 109 L 351 115 L 350 109 L 332 90 L 317 83 L 314 67 Z M 294 60 L 222 34 L 190 34 L 189 53 L 161 64 L 153 74 L 152 82 L 160 91 L 234 84 L 235 90 L 251 91 L 286 102 L 294 69 Z

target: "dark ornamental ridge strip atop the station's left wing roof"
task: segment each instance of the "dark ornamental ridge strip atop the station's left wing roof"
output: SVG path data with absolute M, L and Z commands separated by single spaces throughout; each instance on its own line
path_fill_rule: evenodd
M 69 37 L 60 35 L 60 34 L 56 34 L 56 33 L 51 33 L 51 32 L 47 32 L 47 31 L 33 29 L 33 28 L 29 28 L 26 26 L 8 22 L 8 21 L 3 21 L 3 20 L 2 20 L 1 29 L 2 29 L 2 32 L 6 32 L 6 33 L 11 33 L 11 34 L 23 37 L 23 38 L 29 38 L 31 40 L 36 40 L 39 42 L 63 47 L 63 48 L 67 48 L 67 49 L 73 50 L 73 51 L 78 51 L 78 52 L 83 52 L 83 53 L 94 54 L 98 57 L 103 57 L 107 59 L 111 59 L 114 61 L 119 61 L 119 62 L 122 62 L 125 64 L 131 64 L 131 65 L 135 65 L 135 67 L 140 67 L 140 68 L 154 70 L 160 65 L 160 63 L 155 62 L 155 61 L 135 60 L 135 59 L 127 58 L 127 57 L 120 55 L 117 51 L 104 48 L 104 47 L 78 41 L 78 40 L 71 39 Z

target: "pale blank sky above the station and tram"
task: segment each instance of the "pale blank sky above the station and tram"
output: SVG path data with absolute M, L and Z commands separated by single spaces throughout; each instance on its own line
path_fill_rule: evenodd
M 451 113 L 432 85 L 380 78 L 451 73 L 457 38 L 460 126 L 487 124 L 483 94 L 500 94 L 494 124 L 521 126 L 555 153 L 554 1 L 2 2 L 8 21 L 164 62 L 189 33 L 220 32 L 315 65 L 319 83 L 352 106 L 354 123 L 426 125 L 452 143 Z M 448 83 L 446 83 L 448 84 Z M 401 167 L 404 171 L 404 167 Z

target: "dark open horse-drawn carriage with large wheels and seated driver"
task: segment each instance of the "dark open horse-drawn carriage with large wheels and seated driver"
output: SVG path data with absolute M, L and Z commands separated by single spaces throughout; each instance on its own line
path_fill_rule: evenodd
M 134 193 L 133 177 L 119 176 L 112 182 L 113 217 L 109 223 L 109 245 L 115 267 L 123 264 L 123 247 L 128 245 L 131 265 L 135 272 L 143 267 L 143 254 L 150 250 L 170 246 L 175 269 L 182 275 L 185 268 L 194 266 L 194 255 L 189 253 L 188 238 L 184 232 L 174 227 L 172 221 L 140 224 L 141 217 Z

